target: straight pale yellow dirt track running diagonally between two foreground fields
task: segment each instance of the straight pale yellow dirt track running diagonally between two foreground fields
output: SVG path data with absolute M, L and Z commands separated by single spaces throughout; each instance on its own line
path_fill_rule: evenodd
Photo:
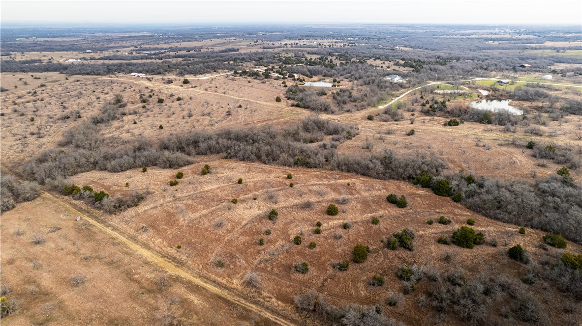
M 19 177 L 17 177 L 17 175 L 14 175 L 9 171 L 6 171 L 6 169 L 4 169 L 3 172 L 13 175 L 19 181 L 23 181 Z M 230 291 L 229 289 L 219 286 L 217 284 L 212 284 L 211 281 L 206 280 L 203 277 L 200 277 L 200 275 L 196 275 L 193 272 L 186 270 L 183 267 L 180 267 L 178 264 L 163 257 L 159 253 L 154 252 L 153 250 L 140 245 L 139 243 L 133 241 L 129 237 L 126 237 L 126 235 L 122 234 L 122 232 L 119 232 L 118 230 L 115 230 L 112 227 L 108 227 L 105 224 L 102 224 L 99 218 L 90 217 L 87 216 L 87 214 L 79 212 L 79 210 L 70 206 L 68 203 L 63 202 L 61 199 L 56 198 L 49 192 L 41 191 L 41 196 L 44 196 L 45 198 L 53 200 L 54 202 L 60 204 L 61 206 L 66 207 L 71 212 L 77 214 L 77 216 L 84 218 L 84 220 L 86 220 L 94 227 L 99 228 L 101 231 L 104 231 L 109 236 L 125 244 L 127 248 L 133 250 L 133 252 L 139 253 L 140 256 L 144 257 L 147 260 L 150 260 L 154 264 L 157 264 L 159 267 L 164 268 L 166 271 L 168 271 L 168 273 L 172 273 L 174 275 L 182 277 L 184 278 L 184 280 L 190 281 L 193 284 L 200 286 L 201 288 L 204 288 L 207 291 L 210 291 L 211 293 L 214 293 L 215 295 L 220 296 L 223 299 L 228 300 L 229 302 L 238 304 L 239 306 L 249 309 L 262 317 L 269 318 L 270 320 L 274 321 L 279 325 L 296 325 L 292 321 L 289 321 L 286 318 L 279 316 L 278 314 L 272 313 L 268 309 L 265 309 L 264 307 L 261 307 L 258 304 L 250 302 L 249 300 L 243 298 L 243 296 L 241 296 L 239 293 Z

